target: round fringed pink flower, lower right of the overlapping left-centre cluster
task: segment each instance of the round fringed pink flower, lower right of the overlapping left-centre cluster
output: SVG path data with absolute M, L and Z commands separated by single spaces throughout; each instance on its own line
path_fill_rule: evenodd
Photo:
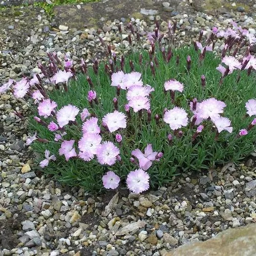
M 113 165 L 120 150 L 111 141 L 104 141 L 97 150 L 98 162 L 101 165 Z

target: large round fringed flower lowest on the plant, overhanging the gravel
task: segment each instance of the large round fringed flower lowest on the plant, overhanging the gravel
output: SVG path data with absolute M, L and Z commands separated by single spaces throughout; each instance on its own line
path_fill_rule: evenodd
M 149 174 L 142 169 L 130 171 L 127 176 L 126 184 L 133 193 L 141 193 L 149 189 Z

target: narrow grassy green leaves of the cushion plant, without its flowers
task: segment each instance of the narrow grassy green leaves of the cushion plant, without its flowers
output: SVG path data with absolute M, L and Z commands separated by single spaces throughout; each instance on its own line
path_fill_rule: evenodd
M 256 75 L 253 72 L 247 76 L 246 71 L 234 71 L 223 80 L 219 85 L 220 73 L 216 70 L 220 59 L 213 53 L 206 53 L 204 61 L 199 61 L 199 53 L 193 48 L 180 48 L 173 51 L 173 57 L 169 63 L 162 58 L 162 53 L 156 49 L 156 58 L 159 66 L 155 66 L 155 76 L 151 74 L 150 60 L 147 51 L 143 51 L 143 62 L 139 64 L 139 53 L 132 53 L 126 58 L 125 72 L 130 72 L 129 59 L 134 64 L 134 70 L 142 73 L 144 84 L 151 85 L 155 91 L 152 92 L 150 99 L 152 120 L 148 122 L 147 112 L 143 112 L 140 118 L 138 113 L 131 110 L 131 119 L 128 121 L 128 128 L 122 129 L 123 136 L 122 146 L 118 146 L 121 151 L 122 162 L 117 162 L 112 167 L 101 166 L 96 160 L 84 162 L 81 159 L 74 158 L 65 161 L 63 156 L 59 156 L 58 149 L 61 142 L 54 141 L 54 134 L 47 128 L 39 125 L 31 117 L 32 129 L 38 132 L 39 137 L 46 138 L 50 142 L 47 144 L 34 142 L 33 149 L 42 153 L 49 149 L 55 154 L 57 161 L 50 162 L 45 169 L 46 173 L 52 174 L 53 177 L 64 184 L 70 186 L 82 186 L 88 191 L 100 191 L 102 189 L 102 175 L 108 171 L 115 171 L 125 180 L 129 171 L 137 168 L 129 160 L 133 149 L 144 151 L 148 143 L 152 144 L 154 151 L 163 152 L 164 157 L 159 162 L 154 162 L 148 172 L 150 175 L 151 188 L 157 188 L 159 185 L 168 184 L 172 176 L 183 171 L 200 171 L 214 167 L 216 164 L 223 164 L 228 161 L 238 161 L 248 155 L 255 148 L 256 128 L 249 131 L 248 135 L 237 137 L 240 129 L 247 128 L 252 122 L 253 117 L 246 117 L 245 103 L 255 97 Z M 179 55 L 180 62 L 175 64 L 176 56 Z M 186 58 L 190 55 L 192 59 L 191 70 L 187 72 Z M 88 69 L 88 76 L 94 84 L 94 90 L 97 92 L 99 105 L 90 107 L 87 101 L 87 93 L 90 87 L 84 74 L 77 75 L 76 80 L 71 80 L 68 91 L 53 90 L 49 92 L 50 99 L 62 106 L 72 104 L 80 109 L 88 108 L 90 113 L 94 113 L 101 120 L 104 115 L 114 110 L 112 99 L 116 97 L 116 87 L 110 86 L 110 79 L 104 71 L 104 63 L 100 64 L 99 74 L 95 75 L 92 68 Z M 117 65 L 120 69 L 120 62 Z M 236 82 L 237 75 L 240 73 L 241 79 Z M 201 75 L 206 77 L 206 86 L 201 86 Z M 169 79 L 176 79 L 184 84 L 183 93 L 176 93 L 175 105 L 183 107 L 192 117 L 189 103 L 193 98 L 198 102 L 204 99 L 215 97 L 217 100 L 224 101 L 227 107 L 224 108 L 223 116 L 232 121 L 234 128 L 233 133 L 222 131 L 218 139 L 215 140 L 216 130 L 213 128 L 211 121 L 204 121 L 205 125 L 202 133 L 198 135 L 192 143 L 192 135 L 196 127 L 182 128 L 183 137 L 174 137 L 172 144 L 169 145 L 167 135 L 171 133 L 169 125 L 165 124 L 160 118 L 160 123 L 156 124 L 154 115 L 163 116 L 164 108 L 171 109 L 174 105 L 171 103 L 170 94 L 164 93 L 164 82 Z M 127 104 L 126 91 L 121 90 L 118 97 L 119 111 L 125 112 L 124 105 Z M 49 123 L 49 120 L 45 120 Z M 76 142 L 81 138 L 82 122 L 77 118 L 78 125 L 66 126 L 67 135 L 65 139 L 75 139 Z M 173 133 L 172 133 L 173 134 Z M 102 134 L 103 141 L 114 140 L 115 133 Z M 77 150 L 78 151 L 78 150 Z

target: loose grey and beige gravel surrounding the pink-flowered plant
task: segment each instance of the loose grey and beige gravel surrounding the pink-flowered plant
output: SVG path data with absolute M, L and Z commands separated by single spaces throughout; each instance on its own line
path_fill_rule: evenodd
M 71 30 L 64 24 L 56 29 L 43 10 L 31 25 L 23 7 L 19 8 L 17 21 L 7 19 L 6 30 L 0 32 L 5 46 L 0 52 L 2 82 L 39 72 L 36 63 L 47 60 L 46 50 L 56 51 L 60 58 L 66 53 L 76 65 L 81 57 L 87 62 L 95 54 L 104 58 L 105 46 L 98 35 L 121 51 L 117 35 L 121 20 L 106 21 L 97 31 Z M 33 7 L 27 8 L 34 12 Z M 163 2 L 163 8 L 175 12 L 169 2 Z M 225 28 L 231 18 L 250 27 L 254 20 L 238 8 L 237 13 L 218 17 L 200 12 L 172 13 L 178 21 L 176 45 L 191 43 L 201 28 Z M 161 19 L 159 15 L 149 16 L 148 22 L 131 19 L 142 35 L 153 31 L 153 20 Z M 167 28 L 166 21 L 160 20 L 160 24 L 162 30 Z M 126 53 L 129 30 L 123 22 L 121 25 Z M 21 33 L 24 28 L 29 35 Z M 145 37 L 142 47 L 148 47 Z M 230 227 L 256 221 L 253 157 L 238 166 L 229 163 L 209 172 L 184 173 L 174 177 L 170 186 L 141 195 L 120 189 L 118 194 L 95 196 L 42 176 L 25 146 L 28 121 L 14 114 L 21 109 L 26 116 L 29 103 L 10 94 L 1 95 L 0 255 L 159 256 L 190 241 L 206 240 Z

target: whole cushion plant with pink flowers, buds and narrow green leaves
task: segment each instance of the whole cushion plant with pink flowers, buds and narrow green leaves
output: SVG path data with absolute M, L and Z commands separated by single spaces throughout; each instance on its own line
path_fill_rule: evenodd
M 194 47 L 175 49 L 175 27 L 169 23 L 165 36 L 157 24 L 149 51 L 118 58 L 107 45 L 108 61 L 87 67 L 82 60 L 81 72 L 48 53 L 41 74 L 0 87 L 33 99 L 35 134 L 26 144 L 41 153 L 45 173 L 87 191 L 126 183 L 139 193 L 255 149 L 256 38 L 233 23 L 213 27 L 205 43 L 201 32 Z M 222 50 L 213 52 L 218 38 Z

